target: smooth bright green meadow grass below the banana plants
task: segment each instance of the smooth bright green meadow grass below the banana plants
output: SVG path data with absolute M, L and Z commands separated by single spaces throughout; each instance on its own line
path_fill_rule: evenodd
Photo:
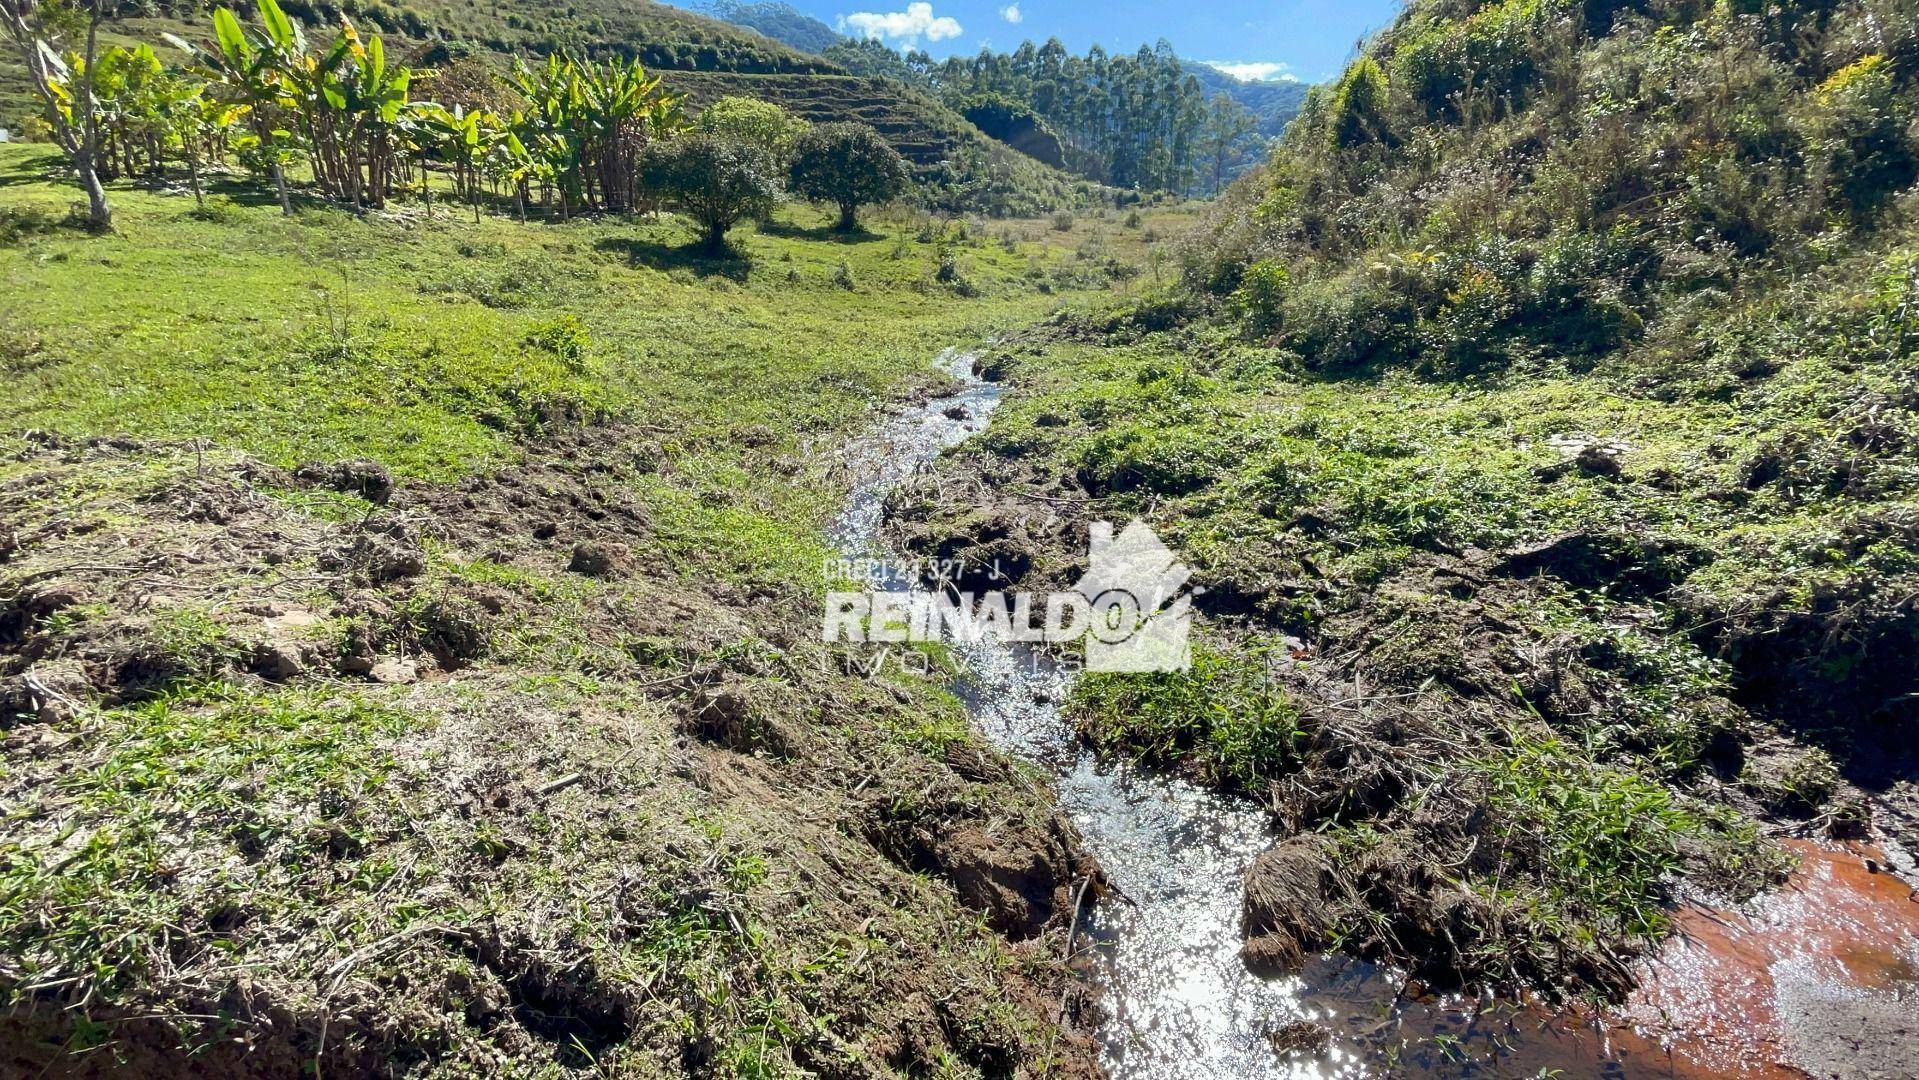
M 0 211 L 50 223 L 71 190 L 44 148 L 0 148 Z M 516 439 L 643 418 L 668 453 L 770 430 L 796 449 L 875 399 L 935 380 L 929 359 L 1057 305 L 1031 274 L 1054 244 L 975 242 L 979 297 L 933 282 L 919 221 L 841 240 L 810 207 L 706 261 L 672 219 L 480 224 L 286 219 L 236 192 L 221 221 L 132 186 L 107 238 L 36 224 L 0 249 L 8 424 L 211 437 L 278 464 L 372 457 L 445 480 L 512 460 Z M 854 290 L 833 284 L 841 263 Z M 555 320 L 583 347 L 557 353 Z M 578 341 L 576 341 L 578 343 Z M 31 345 L 31 347 L 29 347 Z

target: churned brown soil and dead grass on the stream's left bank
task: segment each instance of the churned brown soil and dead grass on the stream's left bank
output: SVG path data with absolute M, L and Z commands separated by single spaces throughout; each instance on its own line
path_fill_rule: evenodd
M 963 729 L 887 735 L 936 698 L 842 675 L 816 597 L 670 566 L 633 481 L 672 466 L 641 432 L 453 487 L 130 439 L 21 460 L 0 869 L 52 880 L 129 806 L 165 821 L 165 865 L 21 894 L 0 1072 L 1098 1070 L 1059 1015 L 1096 873 L 1075 829 Z M 106 787 L 138 708 L 234 693 L 403 721 L 319 792 L 182 773 L 215 815 Z M 88 907 L 157 951 L 67 967 L 48 934 Z

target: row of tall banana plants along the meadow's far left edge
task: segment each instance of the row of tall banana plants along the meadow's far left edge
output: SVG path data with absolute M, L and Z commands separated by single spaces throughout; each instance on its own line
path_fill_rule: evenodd
M 167 35 L 186 67 L 144 44 L 96 58 L 92 121 L 109 178 L 157 175 L 177 159 L 198 196 L 201 165 L 234 155 L 272 176 L 286 211 L 296 165 L 322 196 L 357 209 L 416 194 L 432 213 L 443 175 L 476 215 L 487 192 L 510 194 L 522 217 L 530 201 L 562 215 L 628 211 L 639 200 L 639 152 L 685 127 L 679 96 L 631 59 L 514 63 L 507 84 L 520 107 L 445 107 L 415 100 L 430 73 L 391 63 L 380 36 L 363 36 L 345 15 L 328 44 L 313 46 L 276 0 L 255 6 L 253 25 L 215 10 L 211 50 Z M 56 61 L 56 96 L 71 113 L 84 63 Z

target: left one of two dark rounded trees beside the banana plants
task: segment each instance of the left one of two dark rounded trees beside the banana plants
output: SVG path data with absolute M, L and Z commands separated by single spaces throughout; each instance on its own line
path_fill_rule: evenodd
M 779 201 L 777 165 L 750 144 L 718 134 L 683 134 L 641 153 L 639 184 L 691 217 L 708 249 L 725 247 L 725 232 Z

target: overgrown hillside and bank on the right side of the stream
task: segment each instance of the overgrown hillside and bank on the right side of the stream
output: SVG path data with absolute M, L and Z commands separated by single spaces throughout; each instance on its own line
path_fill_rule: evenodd
M 1184 288 L 1006 349 L 944 481 L 981 505 L 906 533 L 1071 581 L 1084 520 L 1142 514 L 1196 566 L 1196 669 L 1075 708 L 1293 834 L 1251 961 L 1610 994 L 1765 834 L 1919 844 L 1915 35 L 1416 2 Z

